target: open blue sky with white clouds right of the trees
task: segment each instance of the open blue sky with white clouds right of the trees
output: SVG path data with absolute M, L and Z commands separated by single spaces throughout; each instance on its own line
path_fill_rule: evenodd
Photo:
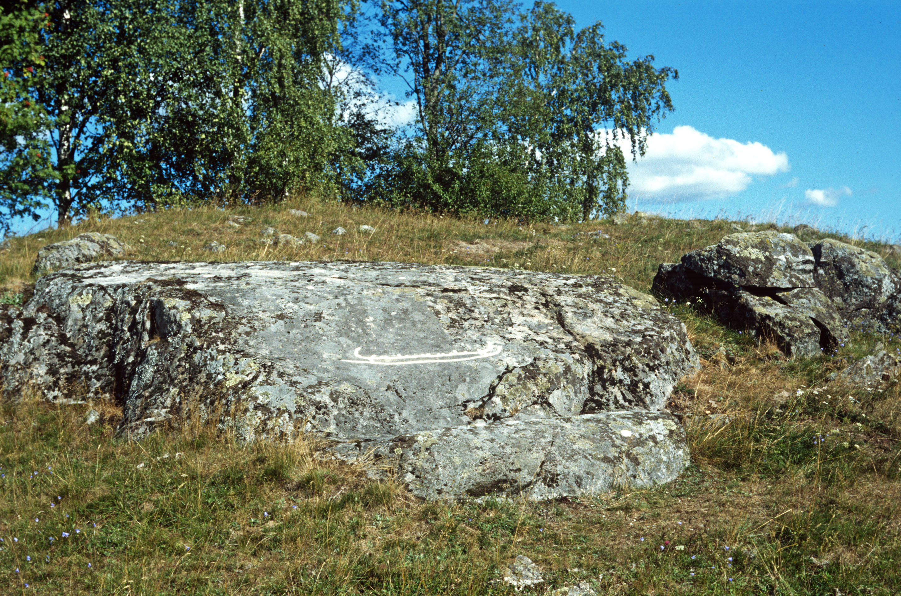
M 901 2 L 558 6 L 678 68 L 630 208 L 901 241 Z

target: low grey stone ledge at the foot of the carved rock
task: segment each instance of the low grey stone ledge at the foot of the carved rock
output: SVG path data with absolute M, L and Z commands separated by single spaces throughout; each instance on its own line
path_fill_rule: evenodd
M 495 492 L 543 500 L 650 487 L 674 480 L 690 461 L 685 429 L 662 411 L 501 420 L 333 452 L 350 461 L 371 457 L 429 500 Z

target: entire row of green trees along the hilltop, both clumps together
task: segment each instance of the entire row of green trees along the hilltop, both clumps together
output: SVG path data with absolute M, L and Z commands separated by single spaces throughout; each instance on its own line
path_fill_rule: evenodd
M 527 219 L 623 207 L 621 147 L 643 154 L 675 70 L 548 3 L 376 7 L 364 23 L 357 0 L 7 0 L 0 229 L 314 186 Z M 404 78 L 412 126 L 380 122 L 368 68 Z

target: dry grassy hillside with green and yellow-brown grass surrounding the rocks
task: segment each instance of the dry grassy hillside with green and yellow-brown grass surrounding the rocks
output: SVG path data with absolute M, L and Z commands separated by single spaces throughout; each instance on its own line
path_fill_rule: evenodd
M 298 217 L 299 209 L 309 217 Z M 240 227 L 230 217 L 245 216 Z M 298 200 L 86 221 L 10 241 L 0 295 L 21 303 L 39 248 L 109 233 L 139 260 L 378 260 L 615 275 L 643 292 L 662 262 L 733 233 L 731 221 L 632 218 L 517 225 Z M 742 222 L 738 222 L 744 225 Z M 360 232 L 360 225 L 376 229 Z M 343 227 L 348 233 L 332 235 Z M 278 248 L 260 230 L 322 237 Z M 786 231 L 790 231 L 786 229 Z M 592 232 L 599 232 L 593 234 Z M 833 234 L 802 239 L 833 237 Z M 203 247 L 224 244 L 222 253 Z M 860 244 L 860 242 L 855 242 Z M 888 247 L 863 243 L 901 266 Z M 511 594 L 516 555 L 544 594 L 901 592 L 901 390 L 829 380 L 878 341 L 789 360 L 687 304 L 703 370 L 669 409 L 693 464 L 654 490 L 595 498 L 434 503 L 315 454 L 313 438 L 241 446 L 199 423 L 114 438 L 114 403 L 0 404 L 0 585 L 6 593 Z M 89 410 L 100 421 L 86 425 Z M 898 559 L 896 562 L 895 559 Z M 560 592 L 566 593 L 566 592 Z

